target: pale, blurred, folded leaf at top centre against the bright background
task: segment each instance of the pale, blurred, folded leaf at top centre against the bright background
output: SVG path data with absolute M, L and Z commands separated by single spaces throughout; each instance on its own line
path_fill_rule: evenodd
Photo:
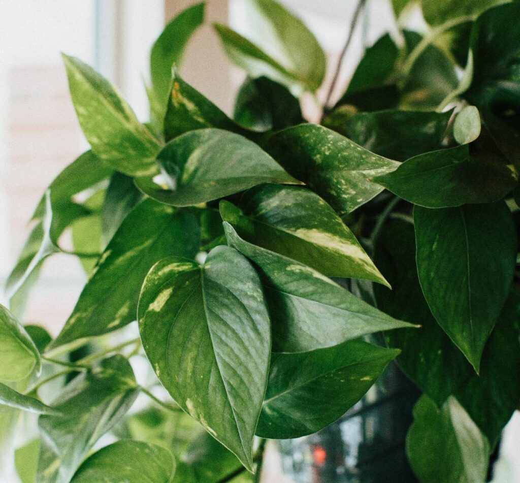
M 274 0 L 247 0 L 250 40 L 215 25 L 227 55 L 252 77 L 265 75 L 314 92 L 323 82 L 326 58 L 305 24 Z

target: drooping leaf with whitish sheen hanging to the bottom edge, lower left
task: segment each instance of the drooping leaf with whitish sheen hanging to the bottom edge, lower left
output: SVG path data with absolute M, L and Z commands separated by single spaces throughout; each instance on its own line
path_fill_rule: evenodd
M 42 448 L 36 481 L 68 483 L 90 448 L 128 411 L 138 393 L 132 368 L 120 355 L 75 377 L 56 399 L 63 416 L 42 415 L 38 420 Z

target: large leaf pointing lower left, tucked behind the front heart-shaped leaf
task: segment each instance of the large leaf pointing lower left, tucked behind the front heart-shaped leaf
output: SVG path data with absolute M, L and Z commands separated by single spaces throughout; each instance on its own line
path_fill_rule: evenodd
M 52 346 L 105 334 L 135 320 L 139 290 L 150 267 L 172 254 L 194 257 L 198 247 L 192 214 L 153 200 L 139 204 L 101 255 Z

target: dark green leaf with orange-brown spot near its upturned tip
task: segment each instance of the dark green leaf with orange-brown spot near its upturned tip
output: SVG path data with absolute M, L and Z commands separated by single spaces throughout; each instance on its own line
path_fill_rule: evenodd
M 254 132 L 250 132 L 229 119 L 213 102 L 184 82 L 174 71 L 172 92 L 168 98 L 166 118 L 164 119 L 166 141 L 188 131 L 209 127 L 225 129 L 245 137 L 255 135 Z

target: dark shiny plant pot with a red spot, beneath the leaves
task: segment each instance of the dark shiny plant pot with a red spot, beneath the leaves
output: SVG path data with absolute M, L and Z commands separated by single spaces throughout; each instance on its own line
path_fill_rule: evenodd
M 284 474 L 297 483 L 417 482 L 405 440 L 418 397 L 417 388 L 389 365 L 340 420 L 314 435 L 279 442 Z

